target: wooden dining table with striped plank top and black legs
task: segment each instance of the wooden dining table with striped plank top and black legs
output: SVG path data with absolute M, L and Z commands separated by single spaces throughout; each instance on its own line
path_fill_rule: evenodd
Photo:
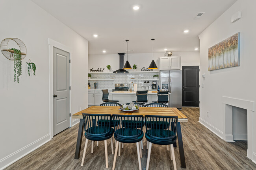
M 180 153 L 180 163 L 182 168 L 186 168 L 186 161 L 184 155 L 184 148 L 182 142 L 182 133 L 180 122 L 187 122 L 187 117 L 182 114 L 177 108 L 157 108 L 157 107 L 140 107 L 139 110 L 134 112 L 124 112 L 118 110 L 120 107 L 117 106 L 91 106 L 85 110 L 82 110 L 78 113 L 72 115 L 73 119 L 80 119 L 79 129 L 76 141 L 76 152 L 75 159 L 79 159 L 81 144 L 83 139 L 83 113 L 91 113 L 91 114 L 119 114 L 119 115 L 159 115 L 159 116 L 178 116 L 178 123 L 176 124 L 177 128 L 177 138 L 178 138 L 178 146 Z M 176 143 L 174 143 L 174 147 L 176 147 Z

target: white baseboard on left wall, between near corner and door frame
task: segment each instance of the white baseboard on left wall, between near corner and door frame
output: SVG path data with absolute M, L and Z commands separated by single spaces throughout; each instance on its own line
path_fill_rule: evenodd
M 36 141 L 28 144 L 27 146 L 17 150 L 16 152 L 13 152 L 12 154 L 4 157 L 3 159 L 0 160 L 0 170 L 3 170 L 7 166 L 15 163 L 20 158 L 24 157 L 25 155 L 28 155 L 30 152 L 39 148 L 48 141 L 50 141 L 50 134 L 45 135 L 44 137 L 41 137 L 40 139 L 37 139 Z

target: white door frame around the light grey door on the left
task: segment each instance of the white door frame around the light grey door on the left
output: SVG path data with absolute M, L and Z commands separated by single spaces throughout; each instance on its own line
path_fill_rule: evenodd
M 72 59 L 72 49 L 68 46 L 65 46 L 64 44 L 61 44 L 55 40 L 52 40 L 51 38 L 48 38 L 48 45 L 49 45 L 49 115 L 50 115 L 50 139 L 53 138 L 53 48 L 58 48 L 63 51 L 66 51 L 69 53 L 69 59 Z M 71 70 L 72 70 L 72 64 L 69 64 L 69 86 L 71 86 Z M 71 90 L 69 90 L 69 113 L 71 113 Z M 69 117 L 69 127 L 71 127 L 71 117 Z

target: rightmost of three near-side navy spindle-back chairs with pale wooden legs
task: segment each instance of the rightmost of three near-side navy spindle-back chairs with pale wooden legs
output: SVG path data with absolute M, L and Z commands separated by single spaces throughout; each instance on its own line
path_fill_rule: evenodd
M 161 122 L 161 124 L 154 126 L 155 122 Z M 171 160 L 173 160 L 174 170 L 176 168 L 176 161 L 174 155 L 173 144 L 176 143 L 176 133 L 177 128 L 176 125 L 178 123 L 178 116 L 155 116 L 155 115 L 145 115 L 145 125 L 146 125 L 146 133 L 145 137 L 149 142 L 148 146 L 148 159 L 147 159 L 147 168 L 149 168 L 150 154 L 152 143 L 159 145 L 170 145 L 171 147 Z M 168 126 L 168 128 L 164 129 L 163 126 Z

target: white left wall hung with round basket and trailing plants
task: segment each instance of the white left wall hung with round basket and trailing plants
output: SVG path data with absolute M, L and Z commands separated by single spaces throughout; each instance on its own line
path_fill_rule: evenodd
M 0 169 L 50 139 L 49 46 L 51 38 L 72 49 L 71 114 L 87 107 L 88 41 L 30 0 L 0 1 L 0 40 L 19 38 L 27 47 L 20 83 L 13 61 L 0 53 Z M 29 77 L 26 62 L 37 66 Z

